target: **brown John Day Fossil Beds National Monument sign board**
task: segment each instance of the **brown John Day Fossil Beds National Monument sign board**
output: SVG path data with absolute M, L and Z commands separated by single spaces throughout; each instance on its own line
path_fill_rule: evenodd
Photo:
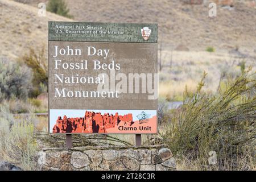
M 157 133 L 157 24 L 49 22 L 49 133 Z

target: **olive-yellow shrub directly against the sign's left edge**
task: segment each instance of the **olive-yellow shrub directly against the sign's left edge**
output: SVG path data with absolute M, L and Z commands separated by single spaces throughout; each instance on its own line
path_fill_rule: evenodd
M 31 90 L 30 96 L 37 97 L 42 91 L 45 92 L 42 88 L 47 88 L 48 69 L 44 48 L 39 53 L 36 53 L 34 49 L 30 49 L 30 52 L 25 54 L 20 61 L 24 62 L 33 72 L 33 89 Z

